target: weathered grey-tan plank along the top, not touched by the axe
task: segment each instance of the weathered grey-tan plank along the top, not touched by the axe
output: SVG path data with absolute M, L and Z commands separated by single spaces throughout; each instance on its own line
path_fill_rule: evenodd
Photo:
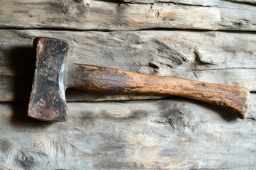
M 0 28 L 256 30 L 256 8 L 247 4 L 220 0 L 126 2 L 0 1 Z

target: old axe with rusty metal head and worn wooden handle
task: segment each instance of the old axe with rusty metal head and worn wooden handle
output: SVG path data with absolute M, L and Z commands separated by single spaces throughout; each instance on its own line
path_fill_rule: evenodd
M 244 119 L 250 91 L 241 86 L 210 84 L 188 79 L 127 72 L 122 69 L 67 63 L 68 42 L 36 38 L 36 69 L 28 116 L 45 121 L 65 121 L 68 87 L 115 94 L 182 96 L 225 108 Z

